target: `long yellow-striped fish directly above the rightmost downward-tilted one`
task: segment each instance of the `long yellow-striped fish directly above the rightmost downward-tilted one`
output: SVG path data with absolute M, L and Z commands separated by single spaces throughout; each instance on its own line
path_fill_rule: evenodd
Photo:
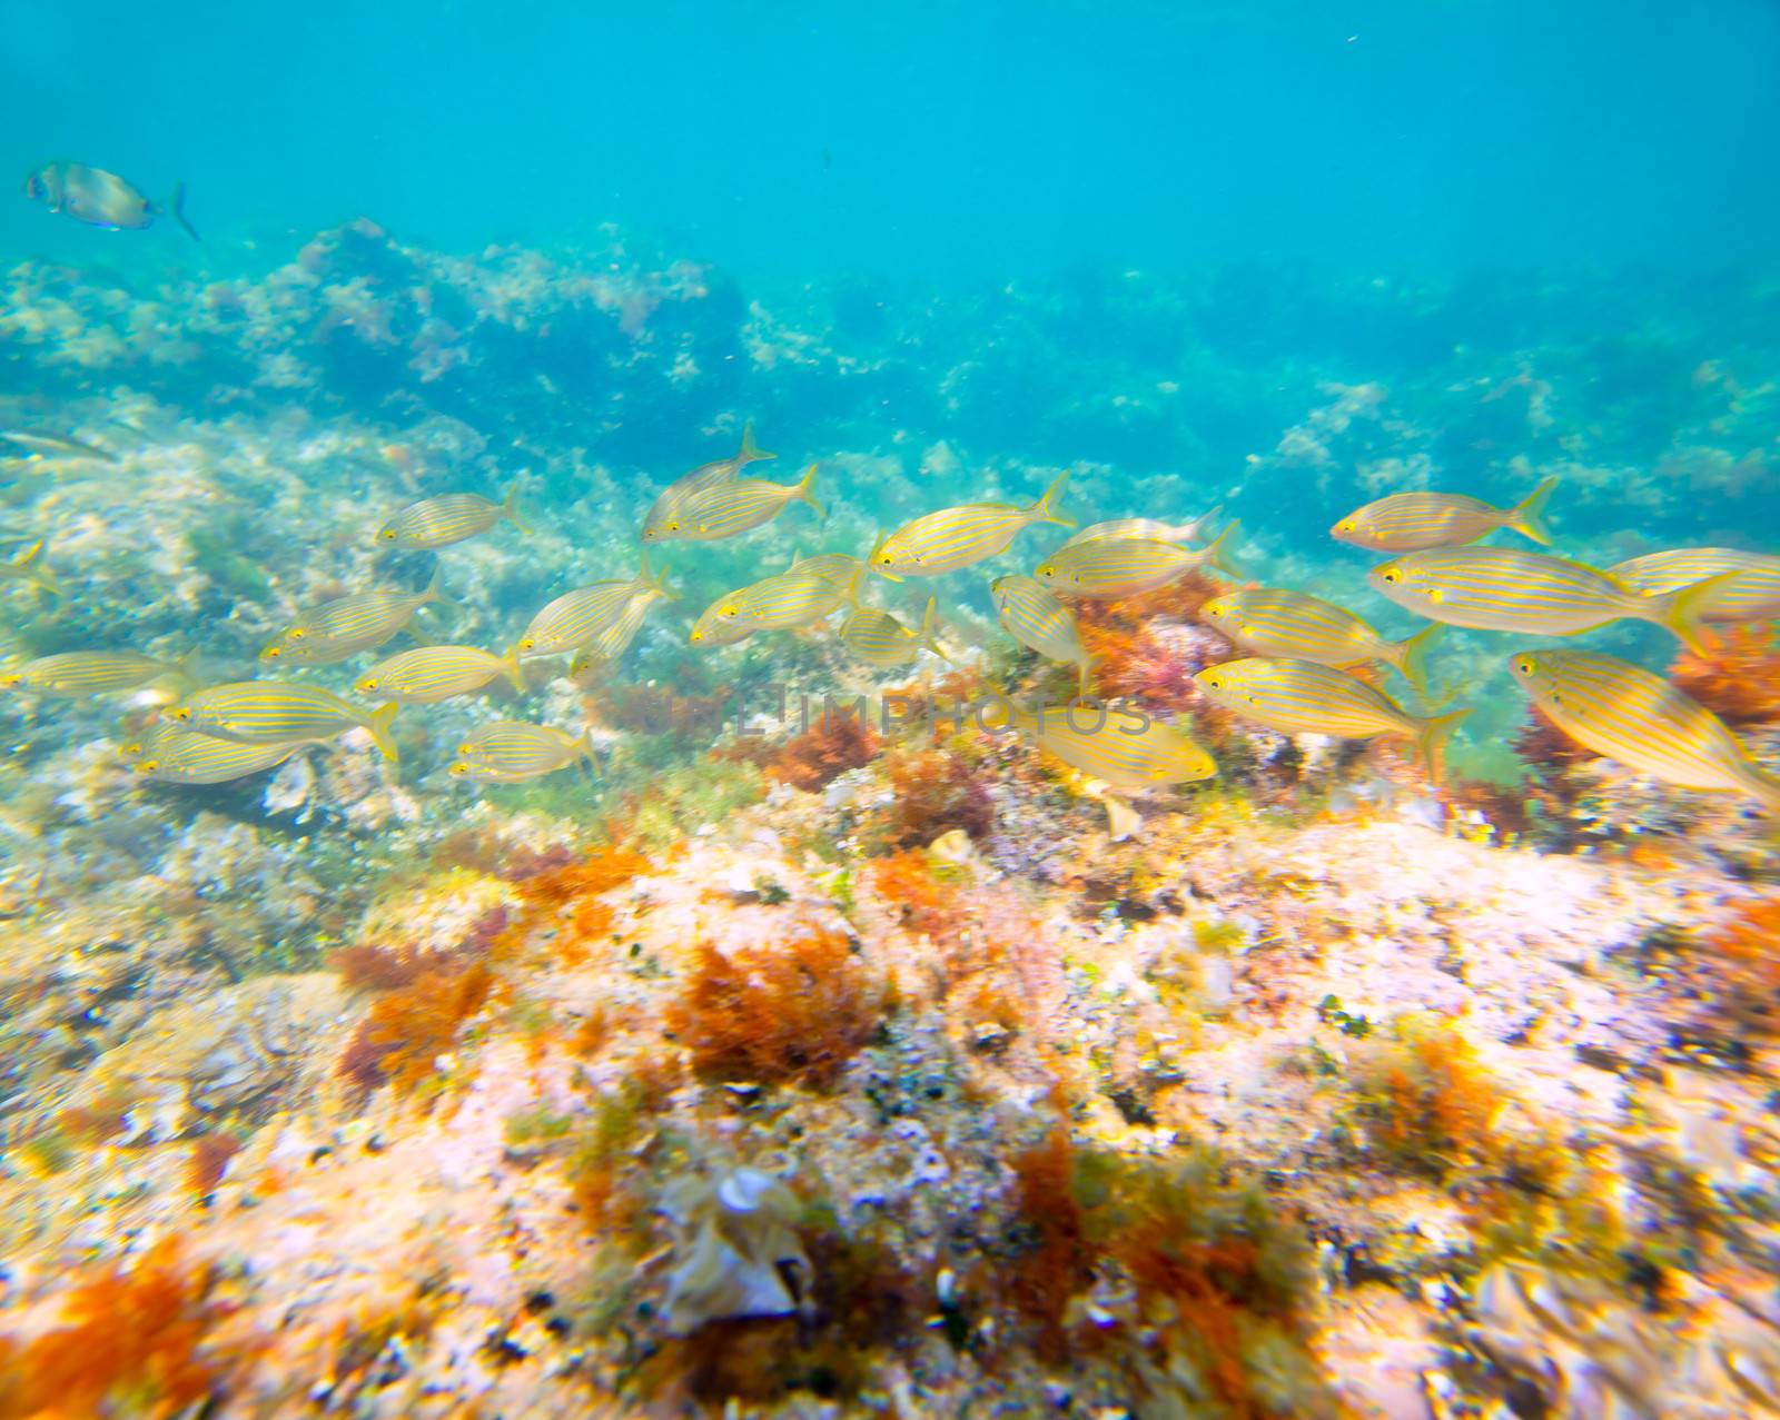
M 1719 578 L 1641 596 L 1598 568 L 1520 548 L 1433 548 L 1367 573 L 1372 587 L 1404 610 L 1477 632 L 1570 635 L 1609 621 L 1654 621 L 1689 649 Z

